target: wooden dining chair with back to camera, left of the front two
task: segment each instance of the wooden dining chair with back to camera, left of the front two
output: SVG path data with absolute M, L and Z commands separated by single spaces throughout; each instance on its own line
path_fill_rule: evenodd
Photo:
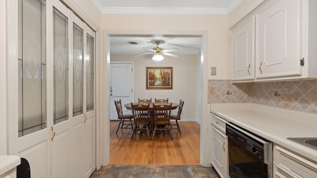
M 142 105 L 142 104 L 132 104 L 132 114 L 133 114 L 133 123 L 134 123 L 134 129 L 131 133 L 131 139 L 133 137 L 134 133 L 137 133 L 140 130 L 146 130 L 148 134 L 148 139 L 150 138 L 150 121 L 151 118 L 150 115 L 150 103 L 148 105 Z M 140 125 L 145 125 L 146 128 L 140 128 Z

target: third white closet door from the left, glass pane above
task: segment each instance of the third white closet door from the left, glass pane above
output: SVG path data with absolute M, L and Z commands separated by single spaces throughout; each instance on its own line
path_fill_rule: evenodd
M 70 128 L 71 128 L 71 173 L 74 178 L 82 178 L 84 152 L 84 38 L 85 24 L 72 13 L 71 34 L 72 51 L 70 65 Z

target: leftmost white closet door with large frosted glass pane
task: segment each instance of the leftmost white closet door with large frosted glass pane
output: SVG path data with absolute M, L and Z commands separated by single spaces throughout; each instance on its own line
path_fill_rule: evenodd
M 8 75 L 16 76 L 10 85 L 13 84 L 18 89 L 17 92 L 9 91 L 8 100 L 10 100 L 10 120 L 18 120 L 18 126 L 15 125 L 18 130 L 15 130 L 14 126 L 10 127 L 15 133 L 14 140 L 10 140 L 14 143 L 10 143 L 9 149 L 10 154 L 26 158 L 31 168 L 37 168 L 31 171 L 31 177 L 45 178 L 48 172 L 47 2 L 46 0 L 16 2 L 18 56 L 15 66 L 9 68 Z

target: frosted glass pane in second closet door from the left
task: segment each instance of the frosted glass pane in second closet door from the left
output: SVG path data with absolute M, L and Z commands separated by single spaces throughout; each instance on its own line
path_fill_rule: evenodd
M 53 7 L 53 124 L 68 120 L 68 18 Z

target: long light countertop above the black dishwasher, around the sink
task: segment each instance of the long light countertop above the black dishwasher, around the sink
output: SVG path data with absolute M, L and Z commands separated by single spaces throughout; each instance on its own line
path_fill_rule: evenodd
M 317 150 L 288 137 L 317 137 L 317 115 L 252 103 L 211 104 L 211 113 L 317 163 Z

